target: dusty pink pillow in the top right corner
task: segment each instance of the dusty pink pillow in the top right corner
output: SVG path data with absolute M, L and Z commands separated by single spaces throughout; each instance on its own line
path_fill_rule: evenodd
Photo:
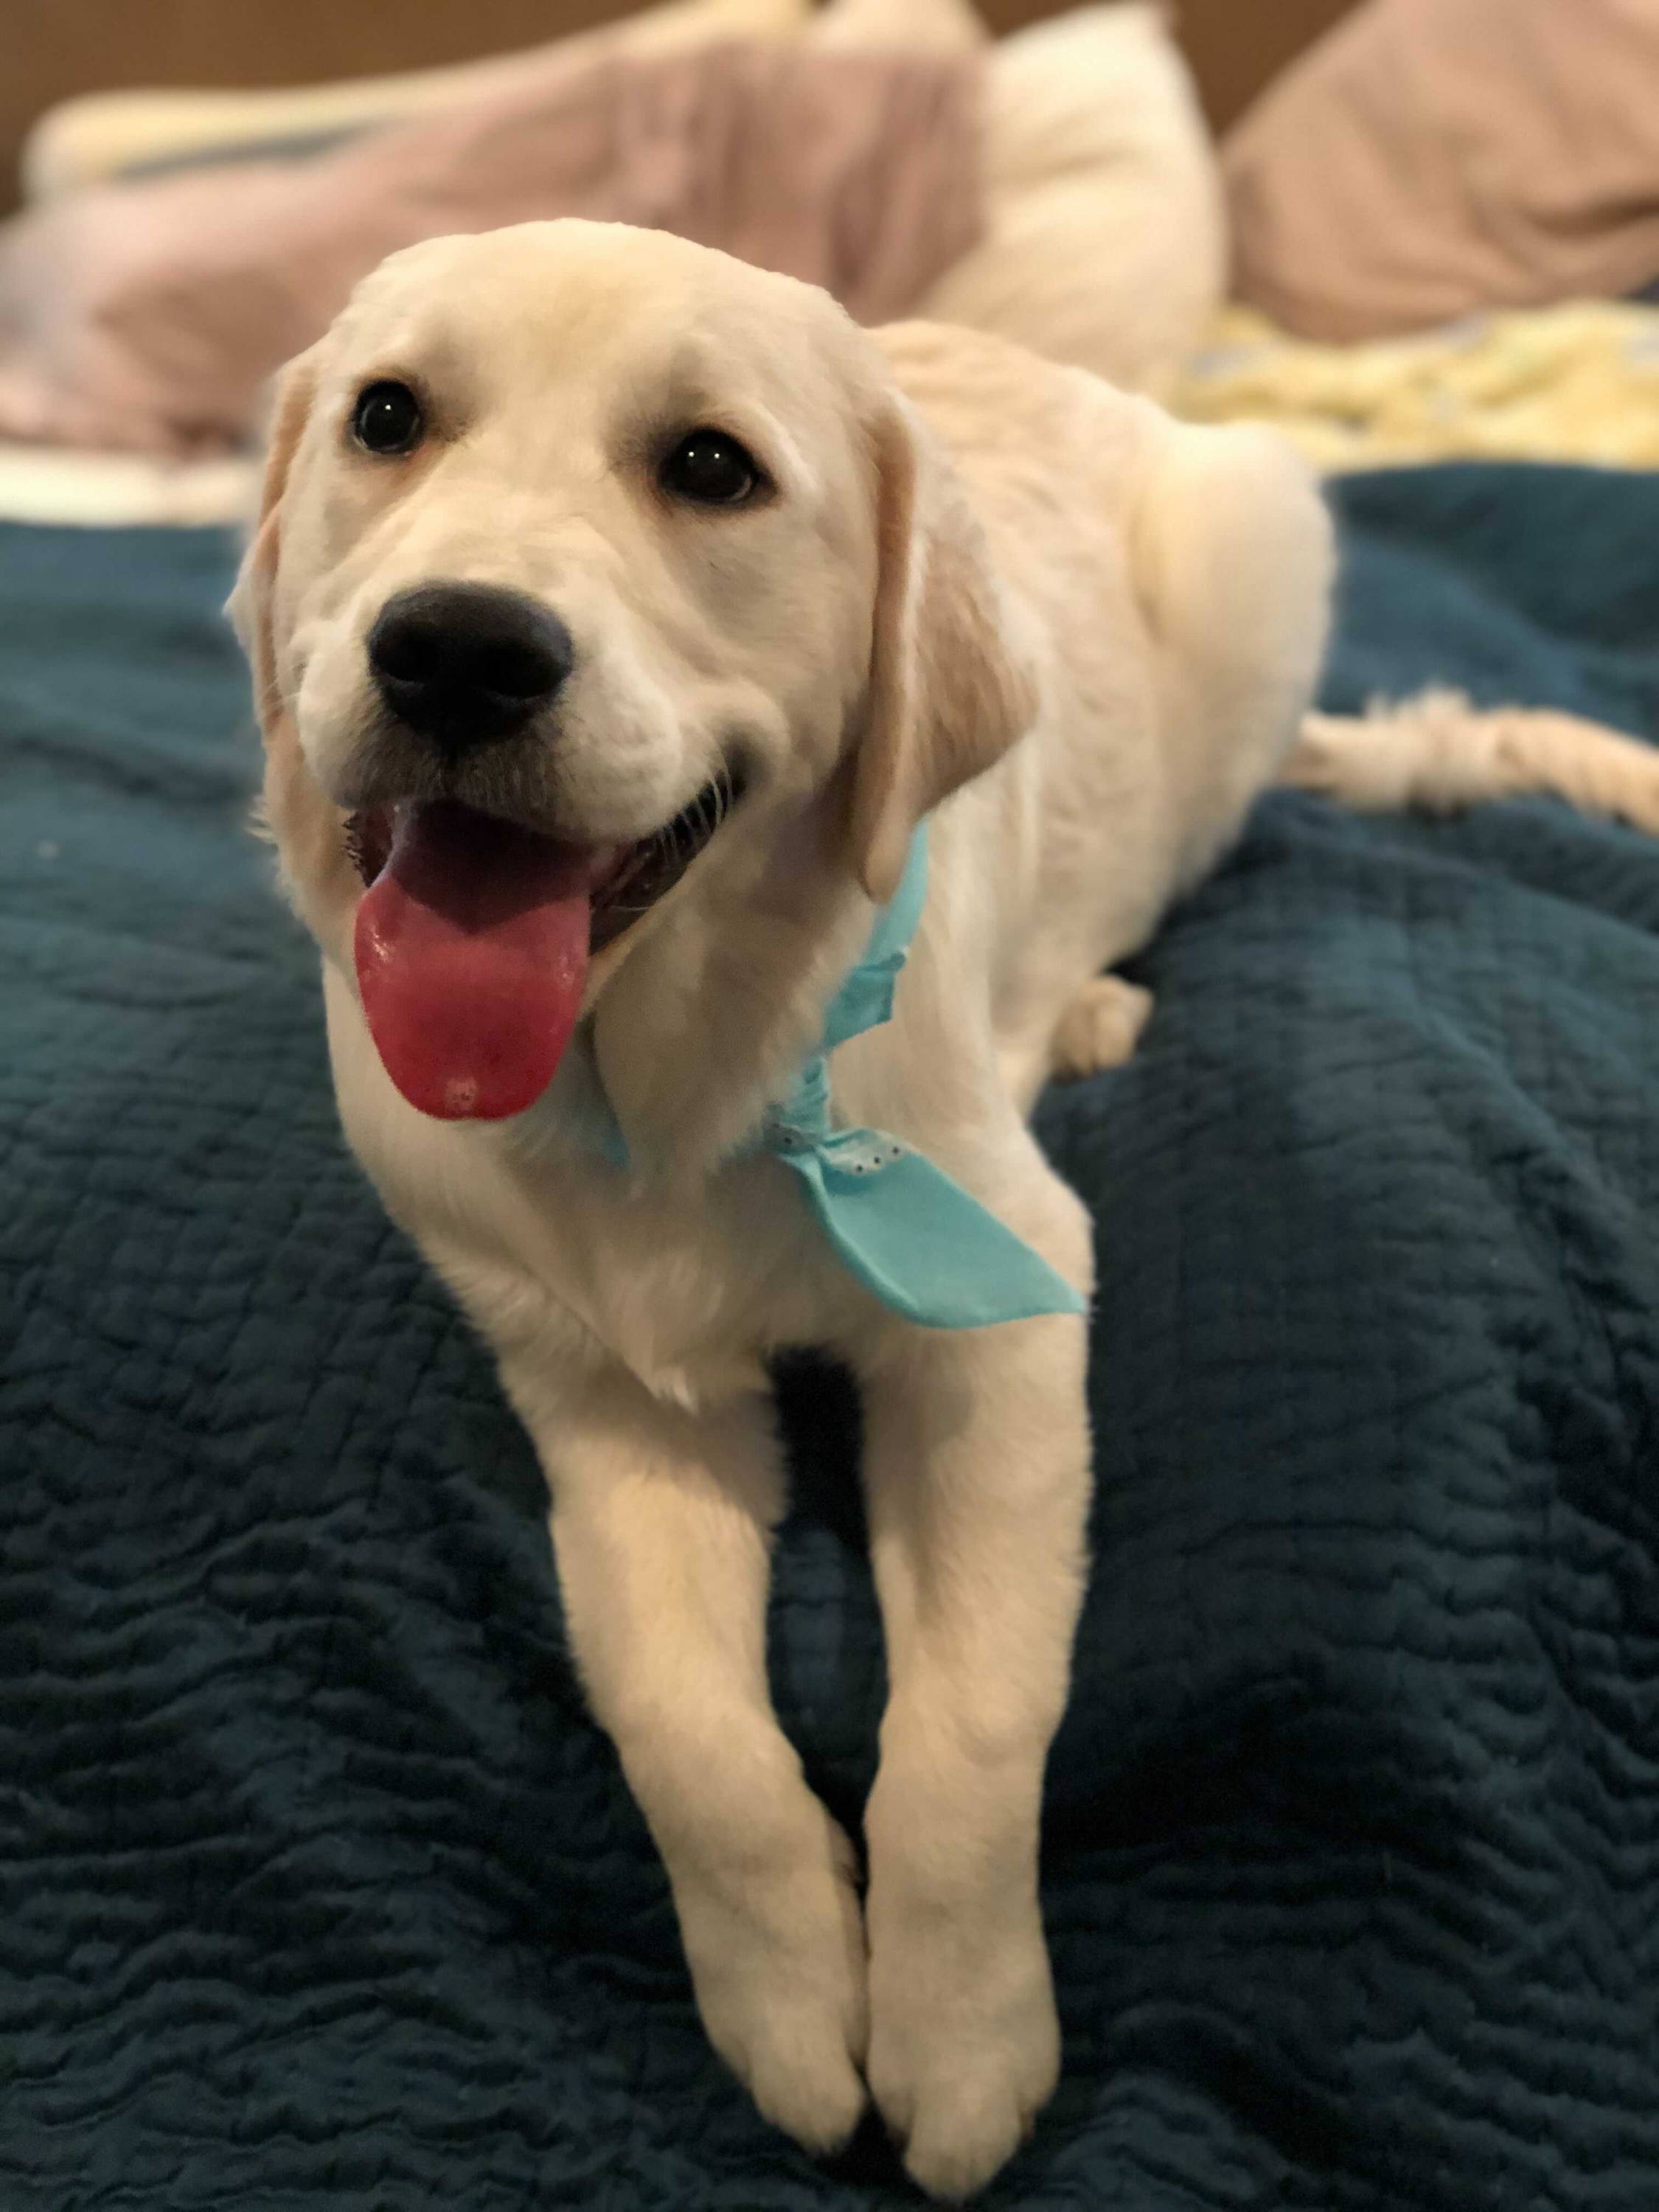
M 1659 276 L 1659 0 L 1369 0 L 1223 150 L 1234 292 L 1307 338 Z

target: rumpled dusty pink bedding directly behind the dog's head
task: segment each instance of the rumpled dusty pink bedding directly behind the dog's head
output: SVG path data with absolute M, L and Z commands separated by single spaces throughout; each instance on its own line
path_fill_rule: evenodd
M 529 62 L 312 161 L 0 228 L 0 436 L 204 453 L 398 246 L 551 215 L 675 230 L 902 314 L 978 237 L 973 58 L 730 44 Z

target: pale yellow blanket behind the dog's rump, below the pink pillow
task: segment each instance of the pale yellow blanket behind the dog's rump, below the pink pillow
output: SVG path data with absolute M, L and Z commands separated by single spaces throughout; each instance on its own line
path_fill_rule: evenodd
M 1332 471 L 1420 460 L 1659 469 L 1659 307 L 1577 301 L 1369 345 L 1310 345 L 1228 307 L 1170 405 L 1194 422 L 1272 422 Z

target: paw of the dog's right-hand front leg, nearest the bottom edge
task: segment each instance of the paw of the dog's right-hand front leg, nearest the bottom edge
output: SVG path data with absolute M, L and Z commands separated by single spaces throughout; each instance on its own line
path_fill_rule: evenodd
M 869 2088 L 929 2197 L 960 2203 L 1031 2132 L 1060 2075 L 1035 1907 L 991 1931 L 925 1913 L 874 1938 Z

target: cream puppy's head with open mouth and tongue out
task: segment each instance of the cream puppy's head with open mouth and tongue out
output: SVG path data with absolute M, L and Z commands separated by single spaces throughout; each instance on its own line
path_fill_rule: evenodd
M 1031 717 L 876 347 L 617 226 L 365 279 L 281 380 L 232 615 L 296 902 L 440 1115 L 518 1113 L 624 975 L 701 989 L 834 891 L 867 918 Z

